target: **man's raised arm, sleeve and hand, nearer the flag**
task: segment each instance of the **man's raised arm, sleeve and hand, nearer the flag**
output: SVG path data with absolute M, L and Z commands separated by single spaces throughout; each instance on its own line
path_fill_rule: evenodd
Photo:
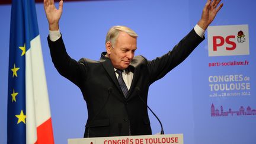
M 59 33 L 59 20 L 62 15 L 63 1 L 59 2 L 59 9 L 56 9 L 53 0 L 44 0 L 44 11 L 46 12 L 46 17 L 49 23 L 50 35 L 48 37 L 48 44 L 50 47 L 50 54 L 52 57 L 52 62 L 55 68 L 60 73 L 60 75 L 68 78 L 74 84 L 80 84 L 82 74 L 85 73 L 85 65 L 73 60 L 66 52 L 65 45 L 63 43 L 62 37 Z M 57 31 L 57 38 L 55 36 L 54 40 L 50 39 Z M 53 37 L 51 37 L 53 38 Z

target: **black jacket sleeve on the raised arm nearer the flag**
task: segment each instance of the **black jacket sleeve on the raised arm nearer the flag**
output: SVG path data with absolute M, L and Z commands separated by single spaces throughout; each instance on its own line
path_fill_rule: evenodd
M 87 73 L 85 64 L 76 62 L 76 60 L 72 59 L 68 55 L 62 37 L 56 41 L 51 41 L 48 36 L 47 40 L 50 47 L 52 62 L 57 71 L 60 73 L 60 75 L 69 79 L 79 87 L 81 84 L 82 76 Z

